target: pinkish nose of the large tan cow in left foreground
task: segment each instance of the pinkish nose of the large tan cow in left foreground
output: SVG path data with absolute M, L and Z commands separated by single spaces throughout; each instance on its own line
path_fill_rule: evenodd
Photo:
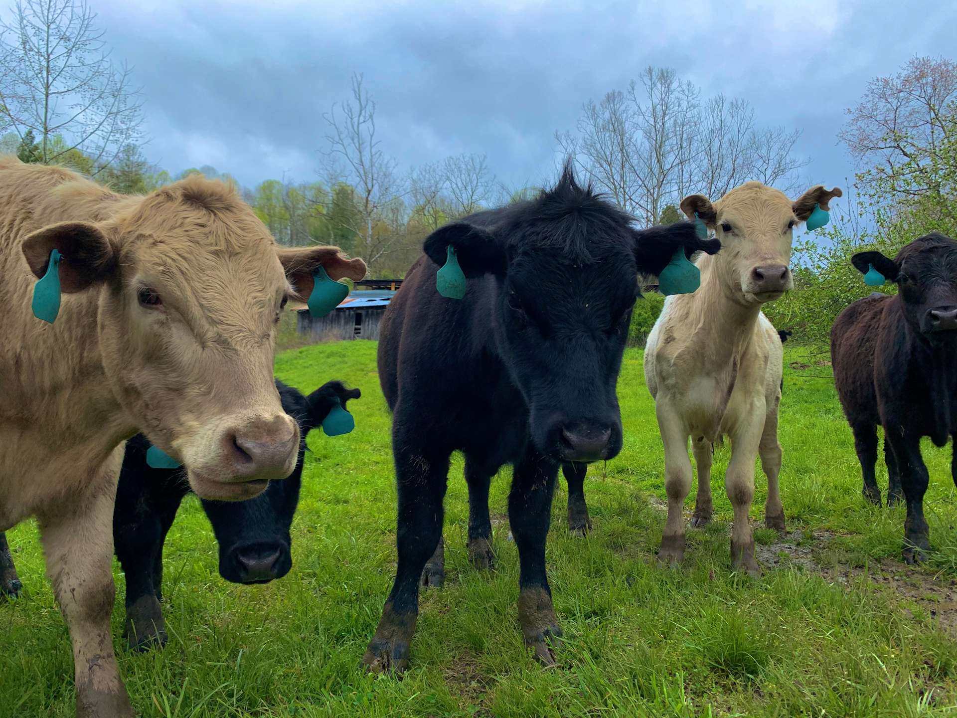
M 285 479 L 296 466 L 299 425 L 288 415 L 255 419 L 223 435 L 223 458 L 235 482 Z

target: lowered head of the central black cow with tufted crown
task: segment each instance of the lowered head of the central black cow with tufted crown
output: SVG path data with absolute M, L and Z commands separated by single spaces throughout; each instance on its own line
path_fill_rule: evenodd
M 485 219 L 439 228 L 426 254 L 442 265 L 451 244 L 466 277 L 495 278 L 489 322 L 537 448 L 560 461 L 611 459 L 621 449 L 615 384 L 638 275 L 657 276 L 678 250 L 713 254 L 720 243 L 690 222 L 634 230 L 633 217 L 580 187 L 568 166 L 551 191 Z

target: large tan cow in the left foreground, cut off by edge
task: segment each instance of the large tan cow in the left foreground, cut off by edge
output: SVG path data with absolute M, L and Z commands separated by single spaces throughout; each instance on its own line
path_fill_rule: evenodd
M 51 325 L 31 298 L 54 249 L 62 303 Z M 273 381 L 276 325 L 320 266 L 333 279 L 366 274 L 335 247 L 279 250 L 221 183 L 128 197 L 0 159 L 0 530 L 38 519 L 78 716 L 133 715 L 110 636 L 125 439 L 142 430 L 210 499 L 250 498 L 286 477 L 299 430 Z

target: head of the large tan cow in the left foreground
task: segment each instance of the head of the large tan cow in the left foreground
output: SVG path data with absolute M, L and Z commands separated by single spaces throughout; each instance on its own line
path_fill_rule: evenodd
M 123 410 L 187 468 L 209 499 L 255 496 L 296 465 L 299 427 L 273 380 L 279 313 L 301 303 L 320 266 L 366 275 L 337 247 L 279 249 L 253 211 L 218 182 L 189 178 L 117 200 L 102 222 L 63 222 L 25 239 L 42 277 L 63 256 L 63 293 L 100 289 L 102 363 Z

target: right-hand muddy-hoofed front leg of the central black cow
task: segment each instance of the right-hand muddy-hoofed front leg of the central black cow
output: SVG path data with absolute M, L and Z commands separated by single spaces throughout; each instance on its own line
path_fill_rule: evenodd
M 519 549 L 519 623 L 525 645 L 545 665 L 555 664 L 553 649 L 562 636 L 545 573 L 545 539 L 557 478 L 558 464 L 529 443 L 515 465 L 508 494 L 508 521 Z

